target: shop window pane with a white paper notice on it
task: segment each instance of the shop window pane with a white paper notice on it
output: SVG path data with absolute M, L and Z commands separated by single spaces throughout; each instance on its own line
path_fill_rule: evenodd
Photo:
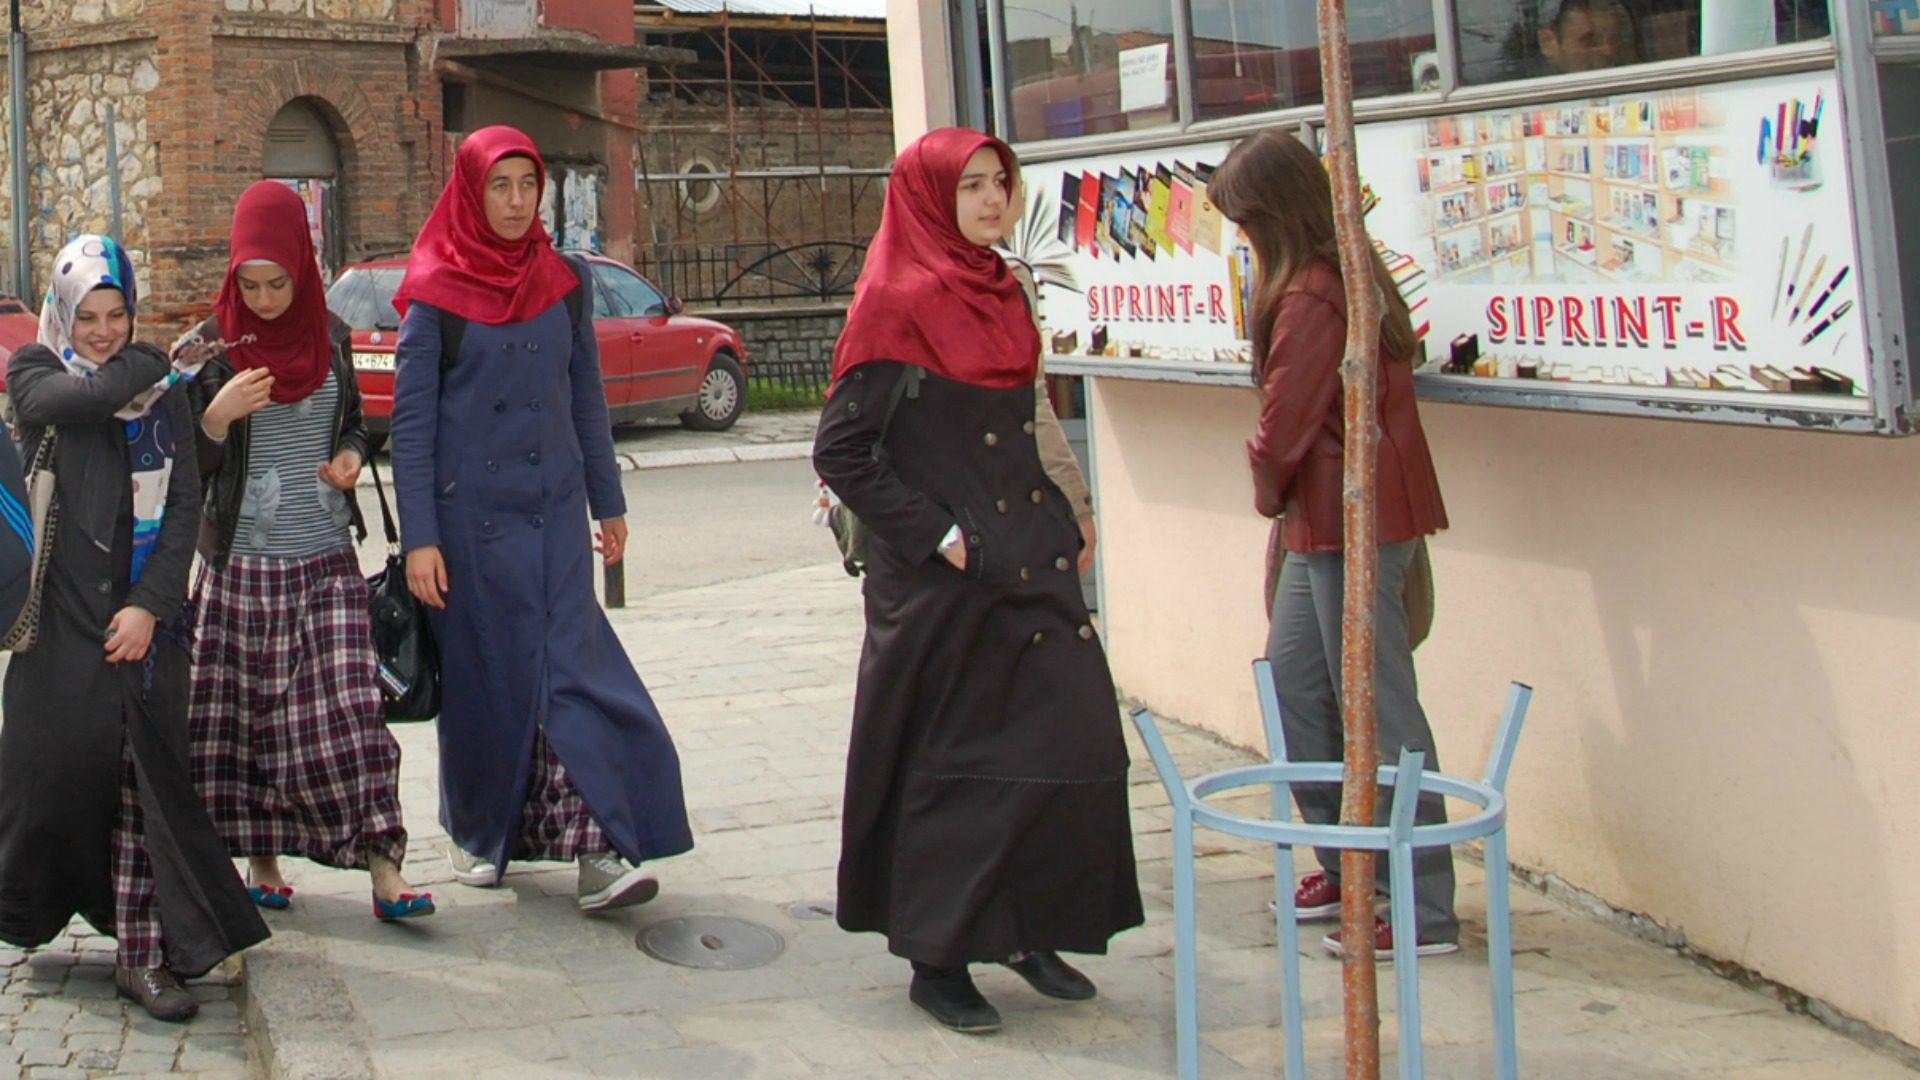
M 1004 12 L 1016 142 L 1179 121 L 1171 0 L 1021 0 Z

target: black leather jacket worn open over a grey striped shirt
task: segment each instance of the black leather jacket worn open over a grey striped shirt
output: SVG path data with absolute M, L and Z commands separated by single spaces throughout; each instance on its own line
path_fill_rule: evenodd
M 221 329 L 213 319 L 202 323 L 196 332 L 204 340 L 221 340 Z M 328 334 L 334 340 L 334 380 L 340 382 L 340 402 L 334 405 L 334 454 L 351 450 L 361 461 L 372 457 L 367 440 L 367 423 L 361 419 L 359 382 L 353 379 L 353 334 L 338 317 L 330 317 Z M 200 515 L 200 557 L 219 567 L 232 553 L 234 528 L 240 523 L 240 502 L 246 496 L 248 473 L 248 417 L 240 417 L 227 429 L 227 438 L 213 442 L 200 427 L 207 405 L 232 379 L 234 367 L 227 354 L 219 354 L 200 369 L 188 382 L 188 400 L 194 405 L 194 434 L 200 448 L 200 482 L 205 488 L 205 505 Z M 361 517 L 359 500 L 349 498 L 353 515 L 353 536 L 367 538 L 367 521 Z

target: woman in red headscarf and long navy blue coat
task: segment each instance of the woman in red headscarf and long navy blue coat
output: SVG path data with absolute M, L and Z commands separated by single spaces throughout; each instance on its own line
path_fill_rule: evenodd
M 578 863 L 582 911 L 653 899 L 693 846 L 680 757 L 593 598 L 626 548 L 586 265 L 540 223 L 545 169 L 511 127 L 467 136 L 394 298 L 394 477 L 407 584 L 447 673 L 440 822 L 453 876 Z M 449 331 L 459 329 L 453 346 Z M 599 523 L 595 546 L 588 515 Z

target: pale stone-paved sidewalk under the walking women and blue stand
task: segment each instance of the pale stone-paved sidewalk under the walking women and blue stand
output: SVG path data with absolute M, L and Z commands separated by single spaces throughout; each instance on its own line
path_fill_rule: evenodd
M 1169 819 L 1137 744 L 1146 926 L 1081 965 L 1100 986 L 1091 1003 L 1048 1001 L 1012 972 L 975 969 L 1006 1026 L 956 1036 L 906 1003 L 906 965 L 877 936 L 845 934 L 812 909 L 833 896 L 856 584 L 826 565 L 653 596 L 612 619 L 674 728 L 695 817 L 699 847 L 655 865 L 657 901 L 582 917 L 572 867 L 553 863 L 516 865 L 499 890 L 453 884 L 434 822 L 434 730 L 405 724 L 396 732 L 413 830 L 407 871 L 434 890 L 440 915 L 378 924 L 365 874 L 290 861 L 300 894 L 292 911 L 269 913 L 275 938 L 244 957 L 240 1015 L 225 986 L 202 986 L 207 1013 L 184 1028 L 129 1019 L 111 999 L 111 953 L 98 938 L 75 934 L 35 957 L 0 953 L 12 972 L 0 1055 L 29 1076 L 242 1076 L 244 1019 L 261 1072 L 301 1080 L 1173 1074 Z M 1165 730 L 1188 774 L 1248 761 L 1200 732 Z M 1515 767 L 1526 769 L 1524 740 Z M 1265 799 L 1246 798 L 1250 811 Z M 1271 859 L 1206 834 L 1198 855 L 1204 1076 L 1279 1076 Z M 1482 878 L 1469 863 L 1459 876 L 1465 949 L 1421 965 L 1436 1080 L 1490 1074 Z M 1766 995 L 1536 892 L 1517 888 L 1515 911 L 1524 1076 L 1912 1078 Z M 695 970 L 636 947 L 637 932 L 680 915 L 751 919 L 778 930 L 785 949 L 753 970 Z M 1308 1055 L 1315 1076 L 1336 1076 L 1340 969 L 1317 934 L 1304 944 Z M 1382 1011 L 1390 1074 L 1390 992 Z

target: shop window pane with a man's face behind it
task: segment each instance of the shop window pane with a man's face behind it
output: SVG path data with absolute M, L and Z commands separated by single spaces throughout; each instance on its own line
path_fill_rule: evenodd
M 1453 23 L 1461 83 L 1572 75 L 1832 35 L 1828 0 L 1453 0 Z

